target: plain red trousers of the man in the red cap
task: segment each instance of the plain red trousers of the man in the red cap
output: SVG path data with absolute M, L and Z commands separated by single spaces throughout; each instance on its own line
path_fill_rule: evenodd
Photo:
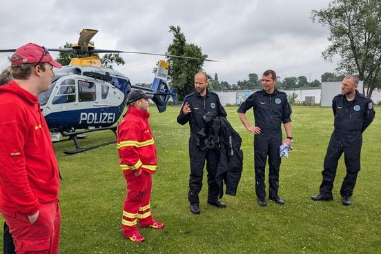
M 30 224 L 28 215 L 1 211 L 12 233 L 18 254 L 57 254 L 59 231 L 61 230 L 61 211 L 57 201 L 41 203 L 39 217 Z

